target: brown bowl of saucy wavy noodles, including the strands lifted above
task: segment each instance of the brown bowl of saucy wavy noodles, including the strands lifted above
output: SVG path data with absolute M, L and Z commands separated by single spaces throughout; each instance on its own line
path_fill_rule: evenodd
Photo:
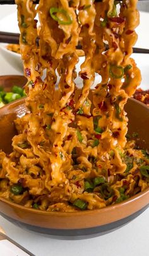
M 136 3 L 16 1 L 27 98 L 0 110 L 0 206 L 9 221 L 85 238 L 148 207 L 149 109 L 129 99 L 141 82 L 130 58 Z

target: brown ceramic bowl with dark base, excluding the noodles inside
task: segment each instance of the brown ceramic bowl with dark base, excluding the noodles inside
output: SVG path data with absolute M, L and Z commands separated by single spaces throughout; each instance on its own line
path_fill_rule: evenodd
M 25 114 L 25 99 L 0 109 L 0 148 L 11 151 L 11 138 L 15 134 L 13 120 Z M 129 117 L 129 134 L 138 132 L 137 143 L 149 149 L 149 108 L 135 99 L 126 105 Z M 38 233 L 61 239 L 82 239 L 109 233 L 132 221 L 149 206 L 149 188 L 128 200 L 102 208 L 78 212 L 44 212 L 25 208 L 0 198 L 0 214 L 14 224 Z

